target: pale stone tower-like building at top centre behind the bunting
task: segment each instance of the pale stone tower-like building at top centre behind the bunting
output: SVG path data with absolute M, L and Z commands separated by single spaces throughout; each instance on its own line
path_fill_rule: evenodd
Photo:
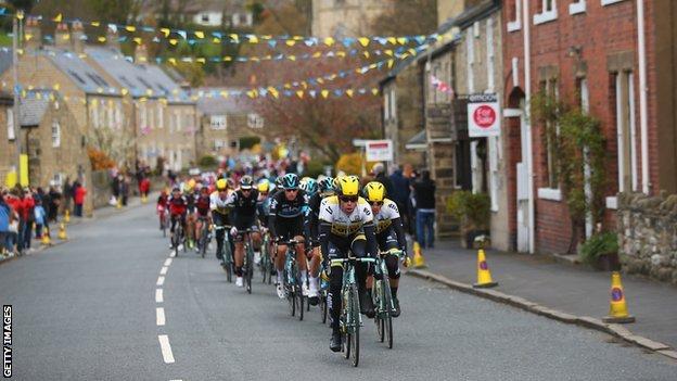
M 392 7 L 391 0 L 312 0 L 312 36 L 371 36 L 373 20 Z

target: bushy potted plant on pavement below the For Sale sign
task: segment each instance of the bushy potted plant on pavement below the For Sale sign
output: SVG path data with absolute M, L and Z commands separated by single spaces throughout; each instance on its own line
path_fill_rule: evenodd
M 486 193 L 456 191 L 447 199 L 447 211 L 460 223 L 463 247 L 473 247 L 478 236 L 489 236 L 490 207 Z

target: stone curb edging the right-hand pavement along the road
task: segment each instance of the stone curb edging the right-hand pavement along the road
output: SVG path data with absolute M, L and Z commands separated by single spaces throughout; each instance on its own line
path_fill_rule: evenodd
M 405 272 L 409 276 L 430 280 L 433 282 L 442 283 L 450 289 L 460 291 L 467 294 L 476 295 L 480 297 L 488 299 L 494 302 L 503 303 L 522 310 L 526 310 L 532 314 L 536 314 L 549 319 L 558 320 L 564 323 L 576 325 L 588 329 L 601 331 L 624 341 L 639 346 L 643 350 L 651 351 L 653 353 L 661 354 L 677 360 L 677 351 L 673 350 L 669 345 L 634 334 L 627 328 L 616 323 L 605 323 L 601 319 L 597 319 L 589 316 L 575 316 L 558 309 L 541 306 L 538 303 L 531 302 L 521 296 L 509 295 L 496 290 L 475 289 L 471 284 L 462 283 L 445 276 L 434 274 L 426 270 L 411 269 Z

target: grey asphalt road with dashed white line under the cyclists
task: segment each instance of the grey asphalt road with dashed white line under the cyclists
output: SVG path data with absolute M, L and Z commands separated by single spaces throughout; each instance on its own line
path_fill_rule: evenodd
M 14 379 L 677 379 L 664 356 L 409 277 L 395 348 L 366 321 L 355 369 L 329 351 L 317 309 L 290 317 L 258 274 L 248 295 L 214 255 L 169 258 L 153 211 L 75 226 L 68 243 L 0 265 Z

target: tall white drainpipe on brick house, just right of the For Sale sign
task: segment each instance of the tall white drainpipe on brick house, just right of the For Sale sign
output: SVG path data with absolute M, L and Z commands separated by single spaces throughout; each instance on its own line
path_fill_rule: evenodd
M 525 93 L 525 110 L 524 110 L 524 127 L 526 128 L 526 172 L 528 176 L 527 192 L 528 192 L 528 228 L 529 228 L 529 253 L 534 254 L 536 251 L 536 224 L 535 224 L 535 207 L 534 207 L 534 152 L 532 147 L 532 123 L 529 120 L 529 102 L 532 100 L 532 51 L 529 46 L 531 40 L 531 21 L 528 0 L 522 0 L 522 21 L 524 25 L 524 93 Z

